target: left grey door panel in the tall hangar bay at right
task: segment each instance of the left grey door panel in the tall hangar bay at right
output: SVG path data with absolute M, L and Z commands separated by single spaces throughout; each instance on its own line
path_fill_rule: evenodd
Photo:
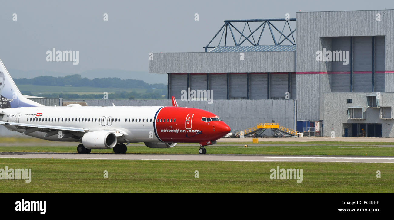
M 333 51 L 349 51 L 350 56 L 350 37 L 333 37 Z M 346 53 L 347 54 L 347 53 Z M 348 64 L 342 62 L 331 62 L 333 73 L 331 75 L 331 92 L 350 92 L 350 58 Z

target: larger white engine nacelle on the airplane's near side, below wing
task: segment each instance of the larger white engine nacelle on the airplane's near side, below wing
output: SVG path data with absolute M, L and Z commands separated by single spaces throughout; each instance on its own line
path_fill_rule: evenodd
M 88 149 L 107 149 L 115 147 L 117 138 L 109 131 L 93 131 L 84 134 L 82 144 Z

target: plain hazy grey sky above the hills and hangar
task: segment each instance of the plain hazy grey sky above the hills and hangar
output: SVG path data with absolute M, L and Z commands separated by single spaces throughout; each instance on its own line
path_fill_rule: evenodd
M 148 74 L 149 52 L 202 52 L 223 20 L 284 18 L 286 13 L 295 18 L 299 10 L 393 8 L 392 0 L 2 1 L 0 59 L 7 69 L 23 71 L 68 75 L 117 69 Z M 17 21 L 12 20 L 13 13 Z M 103 21 L 104 13 L 108 21 Z M 199 21 L 194 20 L 195 13 Z M 80 51 L 79 64 L 46 62 L 45 53 L 52 48 Z M 156 81 L 150 83 L 167 83 L 164 75 L 151 78 Z

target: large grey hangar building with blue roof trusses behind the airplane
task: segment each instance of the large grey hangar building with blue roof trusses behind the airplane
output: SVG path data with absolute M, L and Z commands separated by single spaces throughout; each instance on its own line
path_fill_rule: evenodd
M 253 22 L 260 25 L 256 30 Z M 245 26 L 237 29 L 236 23 Z M 220 38 L 219 44 L 211 40 L 205 51 L 149 53 L 149 73 L 167 74 L 168 99 L 214 112 L 232 130 L 275 122 L 299 132 L 319 130 L 316 136 L 394 137 L 393 30 L 394 10 L 225 20 L 212 39 Z M 264 31 L 273 45 L 261 45 Z M 182 99 L 192 90 L 212 92 L 212 104 L 204 93 L 199 100 Z

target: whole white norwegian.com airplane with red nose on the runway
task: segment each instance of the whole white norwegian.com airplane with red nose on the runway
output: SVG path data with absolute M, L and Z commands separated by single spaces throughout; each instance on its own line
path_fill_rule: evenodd
M 78 104 L 43 106 L 24 97 L 0 60 L 0 125 L 35 138 L 79 141 L 77 151 L 113 148 L 126 153 L 125 143 L 144 142 L 150 148 L 175 147 L 177 142 L 216 144 L 230 127 L 215 114 L 173 106 L 82 107 Z

